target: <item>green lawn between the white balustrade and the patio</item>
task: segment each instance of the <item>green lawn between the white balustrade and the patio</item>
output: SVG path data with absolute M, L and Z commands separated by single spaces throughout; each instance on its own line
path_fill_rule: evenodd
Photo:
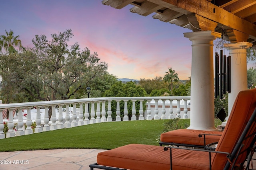
M 42 149 L 114 149 L 130 143 L 158 145 L 168 120 L 106 122 L 0 139 L 0 152 Z M 189 123 L 180 119 L 179 123 Z

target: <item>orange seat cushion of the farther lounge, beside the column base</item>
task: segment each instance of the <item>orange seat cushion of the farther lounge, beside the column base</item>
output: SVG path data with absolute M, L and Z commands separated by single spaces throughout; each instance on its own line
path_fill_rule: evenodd
M 214 135 L 206 135 L 206 145 L 209 143 L 218 142 L 220 140 L 220 136 L 222 132 L 219 131 L 202 131 L 202 130 L 193 130 L 193 129 L 178 129 L 174 131 L 169 131 L 166 133 L 162 133 L 160 140 L 161 142 L 169 142 L 169 143 L 182 143 L 189 145 L 204 145 L 204 136 L 198 137 L 199 134 L 214 134 Z

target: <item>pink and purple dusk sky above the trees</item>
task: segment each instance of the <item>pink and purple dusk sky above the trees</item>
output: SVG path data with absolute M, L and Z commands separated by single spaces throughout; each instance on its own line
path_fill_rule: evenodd
M 164 76 L 172 67 L 181 80 L 191 76 L 191 32 L 174 24 L 102 5 L 101 0 L 6 0 L 1 2 L 0 35 L 13 29 L 24 47 L 33 47 L 35 35 L 72 29 L 72 45 L 88 47 L 108 63 L 117 78 Z

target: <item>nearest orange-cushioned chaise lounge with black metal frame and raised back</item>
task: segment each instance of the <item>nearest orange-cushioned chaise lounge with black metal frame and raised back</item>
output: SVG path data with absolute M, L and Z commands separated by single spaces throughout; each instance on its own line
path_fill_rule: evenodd
M 256 89 L 241 91 L 216 150 L 130 144 L 100 152 L 90 168 L 105 170 L 243 169 L 256 141 Z M 248 166 L 248 164 L 247 164 Z

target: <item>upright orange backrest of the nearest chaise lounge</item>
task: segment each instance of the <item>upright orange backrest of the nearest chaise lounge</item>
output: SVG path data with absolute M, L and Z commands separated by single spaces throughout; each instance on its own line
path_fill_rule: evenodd
M 239 92 L 228 122 L 226 124 L 225 130 L 218 142 L 216 151 L 229 152 L 232 153 L 236 147 L 242 132 L 244 131 L 246 124 L 248 123 L 254 109 L 256 108 L 256 89 L 244 90 Z M 256 131 L 256 123 L 252 123 L 250 126 L 250 133 L 254 134 Z M 236 162 L 243 163 L 246 159 L 247 149 L 250 147 L 254 135 L 246 138 L 242 143 L 244 147 Z M 227 163 L 227 157 L 225 154 L 214 153 L 212 156 L 212 169 L 223 169 Z

